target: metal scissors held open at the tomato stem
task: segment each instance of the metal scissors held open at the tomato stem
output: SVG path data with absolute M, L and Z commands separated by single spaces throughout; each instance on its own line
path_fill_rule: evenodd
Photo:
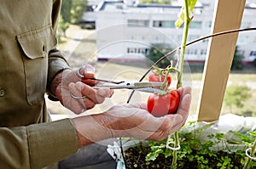
M 84 77 L 83 77 L 84 78 Z M 110 80 L 105 80 L 105 79 L 99 79 L 99 78 L 86 78 L 89 80 L 95 80 L 97 82 L 108 82 L 109 84 L 106 85 L 99 85 L 95 86 L 93 88 L 99 89 L 99 88 L 110 88 L 110 89 L 131 89 L 131 90 L 136 90 L 140 92 L 145 92 L 145 93 L 158 93 L 158 94 L 166 94 L 167 92 L 164 90 L 161 90 L 159 88 L 155 87 L 160 87 L 163 82 L 125 82 L 125 81 L 110 81 Z M 86 96 L 75 96 L 73 93 L 70 93 L 71 97 L 73 99 L 85 99 Z

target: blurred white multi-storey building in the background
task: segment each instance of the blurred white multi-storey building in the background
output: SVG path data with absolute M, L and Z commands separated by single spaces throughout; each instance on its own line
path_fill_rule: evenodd
M 143 60 L 154 43 L 181 44 L 183 28 L 174 25 L 180 11 L 180 1 L 170 5 L 139 4 L 136 0 L 105 0 L 96 8 L 96 45 L 98 60 Z M 256 3 L 247 1 L 241 28 L 256 27 Z M 198 0 L 194 19 L 189 27 L 188 42 L 210 34 L 214 0 Z M 188 61 L 204 61 L 208 39 L 186 49 Z M 237 46 L 245 61 L 256 57 L 256 32 L 240 33 Z

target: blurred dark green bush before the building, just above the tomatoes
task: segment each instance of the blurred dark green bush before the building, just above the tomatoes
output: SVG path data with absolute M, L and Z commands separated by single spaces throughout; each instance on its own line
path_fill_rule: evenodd
M 158 59 L 163 57 L 168 52 L 172 51 L 173 48 L 171 48 L 166 43 L 154 43 L 151 45 L 151 48 L 149 48 L 148 53 L 146 54 L 146 57 L 151 61 L 151 63 L 155 63 Z M 163 59 L 158 67 L 160 68 L 166 68 L 168 65 L 170 65 L 170 60 L 173 60 L 173 57 L 170 56 L 169 58 Z M 150 63 L 150 64 L 151 64 Z

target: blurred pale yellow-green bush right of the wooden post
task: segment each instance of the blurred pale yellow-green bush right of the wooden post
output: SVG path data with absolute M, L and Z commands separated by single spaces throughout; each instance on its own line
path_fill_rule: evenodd
M 224 103 L 230 106 L 230 111 L 232 112 L 232 106 L 235 105 L 237 108 L 242 108 L 244 102 L 250 99 L 252 94 L 250 93 L 250 88 L 247 86 L 231 85 L 227 87 Z

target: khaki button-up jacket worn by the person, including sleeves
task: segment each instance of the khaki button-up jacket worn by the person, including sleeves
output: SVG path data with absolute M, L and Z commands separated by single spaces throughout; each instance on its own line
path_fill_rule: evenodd
M 78 149 L 78 136 L 71 120 L 34 124 L 46 121 L 46 78 L 51 82 L 58 71 L 68 68 L 63 54 L 54 47 L 56 42 L 47 42 L 47 34 L 56 32 L 61 0 L 1 2 L 0 17 L 4 24 L 0 26 L 0 37 L 6 42 L 0 43 L 0 88 L 5 89 L 0 101 L 0 168 L 40 169 Z M 41 46 L 43 43 L 47 48 Z M 40 65 L 38 70 L 36 65 Z

